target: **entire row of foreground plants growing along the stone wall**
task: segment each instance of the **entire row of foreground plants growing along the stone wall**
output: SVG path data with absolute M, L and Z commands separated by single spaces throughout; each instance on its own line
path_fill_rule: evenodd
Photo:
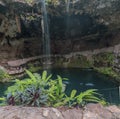
M 96 90 L 91 89 L 77 95 L 76 90 L 71 94 L 65 94 L 66 85 L 63 83 L 65 78 L 57 76 L 52 80 L 52 75 L 43 71 L 41 75 L 32 74 L 26 70 L 29 78 L 16 80 L 13 86 L 8 87 L 6 98 L 1 98 L 3 104 L 25 105 L 25 106 L 83 106 L 87 102 L 100 102 L 101 99 Z

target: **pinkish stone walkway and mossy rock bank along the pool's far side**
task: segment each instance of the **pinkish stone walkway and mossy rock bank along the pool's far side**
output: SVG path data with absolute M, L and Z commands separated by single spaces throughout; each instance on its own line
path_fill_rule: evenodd
M 63 55 L 50 55 L 51 64 L 53 68 L 107 68 L 111 69 L 114 73 L 110 73 L 110 76 L 115 74 L 117 76 L 117 74 L 120 72 L 119 49 L 120 44 L 107 48 L 72 52 Z M 30 50 L 27 49 L 27 51 Z M 1 66 L 7 70 L 8 74 L 21 74 L 24 73 L 24 69 L 31 69 L 31 65 L 34 68 L 42 68 L 45 63 L 45 58 L 46 55 L 39 55 L 18 60 L 9 60 L 6 62 L 1 62 Z

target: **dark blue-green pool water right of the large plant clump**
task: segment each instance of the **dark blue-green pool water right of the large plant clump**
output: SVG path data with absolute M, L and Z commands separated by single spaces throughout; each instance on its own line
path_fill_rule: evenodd
M 119 104 L 119 86 L 112 82 L 110 78 L 101 75 L 93 70 L 74 69 L 52 69 L 53 77 L 60 75 L 68 78 L 66 81 L 66 92 L 69 94 L 71 90 L 76 89 L 79 92 L 87 89 L 98 89 L 98 92 L 110 103 Z

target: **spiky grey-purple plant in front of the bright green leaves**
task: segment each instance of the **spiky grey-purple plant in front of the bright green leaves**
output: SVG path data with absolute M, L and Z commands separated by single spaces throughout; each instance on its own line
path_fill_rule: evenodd
M 28 106 L 44 106 L 47 101 L 47 94 L 41 89 L 36 87 L 28 87 L 25 89 L 24 93 L 16 92 L 14 95 L 14 100 L 11 100 L 11 96 L 7 98 L 9 105 L 28 105 Z

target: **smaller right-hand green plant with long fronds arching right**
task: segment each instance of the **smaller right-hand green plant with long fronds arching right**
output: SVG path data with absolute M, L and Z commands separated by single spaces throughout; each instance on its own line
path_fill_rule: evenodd
M 64 103 L 69 107 L 71 106 L 84 106 L 88 102 L 101 103 L 104 105 L 106 102 L 100 98 L 100 94 L 96 92 L 96 89 L 89 89 L 87 91 L 81 92 L 79 95 L 76 90 L 72 90 L 70 96 L 66 96 Z M 104 102 L 103 102 L 104 101 Z

